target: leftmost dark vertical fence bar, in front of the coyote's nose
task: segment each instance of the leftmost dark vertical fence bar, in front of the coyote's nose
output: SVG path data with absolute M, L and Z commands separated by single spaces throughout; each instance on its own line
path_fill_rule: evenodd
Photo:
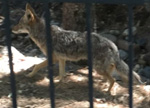
M 9 56 L 9 67 L 10 67 L 10 82 L 11 82 L 11 91 L 12 91 L 12 102 L 13 108 L 17 108 L 17 101 L 16 101 L 16 82 L 15 82 L 15 75 L 13 71 L 13 63 L 12 63 L 12 52 L 11 52 L 11 29 L 10 29 L 10 19 L 9 19 L 9 5 L 8 0 L 4 0 L 4 12 L 5 12 L 5 32 L 6 32 L 6 44 L 8 49 L 8 56 Z

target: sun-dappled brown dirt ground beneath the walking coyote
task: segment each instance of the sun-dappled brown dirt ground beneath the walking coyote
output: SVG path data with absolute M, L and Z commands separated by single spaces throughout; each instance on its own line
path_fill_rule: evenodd
M 24 61 L 27 61 L 26 58 L 18 63 L 21 64 Z M 33 78 L 26 77 L 32 69 L 33 66 L 15 72 L 18 108 L 49 108 L 50 95 L 47 68 L 41 69 Z M 58 65 L 54 66 L 56 108 L 88 108 L 87 67 L 80 67 L 68 62 L 66 70 L 68 70 L 67 76 L 63 81 L 56 82 Z M 108 83 L 102 76 L 93 72 L 93 80 L 94 108 L 128 108 L 128 87 L 123 86 L 122 82 L 116 82 L 111 94 L 109 94 L 105 92 L 108 89 Z M 134 108 L 149 108 L 150 86 L 136 85 L 133 88 Z M 0 73 L 0 108 L 12 108 L 11 96 L 10 76 L 5 72 Z

